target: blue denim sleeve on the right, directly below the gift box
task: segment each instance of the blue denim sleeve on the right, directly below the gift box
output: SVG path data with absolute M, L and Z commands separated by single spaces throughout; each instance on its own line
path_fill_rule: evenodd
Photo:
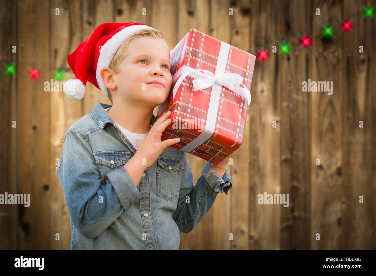
M 193 186 L 193 174 L 186 153 L 183 158 L 183 171 L 180 180 L 180 192 L 173 219 L 183 233 L 191 232 L 214 204 L 217 194 L 227 194 L 232 187 L 231 176 L 225 170 L 219 177 L 207 161 L 201 170 L 201 176 Z

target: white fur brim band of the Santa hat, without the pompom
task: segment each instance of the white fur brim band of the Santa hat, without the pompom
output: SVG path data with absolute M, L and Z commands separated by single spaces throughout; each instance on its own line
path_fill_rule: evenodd
M 97 62 L 97 71 L 96 71 L 96 77 L 97 77 L 97 83 L 100 88 L 100 90 L 103 91 L 105 96 L 108 98 L 108 92 L 107 87 L 102 81 L 102 78 L 100 77 L 100 70 L 104 67 L 110 66 L 111 60 L 114 58 L 116 51 L 119 49 L 121 43 L 123 43 L 130 35 L 133 35 L 133 33 L 138 32 L 142 29 L 154 29 L 152 27 L 146 26 L 146 25 L 132 25 L 129 27 L 126 27 L 122 29 L 121 31 L 115 33 L 115 35 L 112 36 L 101 48 L 98 62 Z

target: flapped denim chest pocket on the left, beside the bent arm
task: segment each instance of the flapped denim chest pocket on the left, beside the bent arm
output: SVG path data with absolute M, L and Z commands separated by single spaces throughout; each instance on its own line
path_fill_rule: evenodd
M 97 151 L 94 152 L 99 172 L 102 175 L 127 163 L 130 153 L 127 151 Z

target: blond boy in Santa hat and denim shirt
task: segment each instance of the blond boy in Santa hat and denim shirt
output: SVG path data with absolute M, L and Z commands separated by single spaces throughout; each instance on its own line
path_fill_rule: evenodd
M 171 88 L 164 35 L 143 23 L 105 23 L 68 56 L 80 99 L 86 81 L 112 105 L 97 103 L 68 129 L 56 172 L 71 219 L 70 250 L 178 250 L 188 233 L 232 187 L 225 166 L 206 162 L 193 187 L 187 154 L 161 141 L 171 120 L 153 110 Z

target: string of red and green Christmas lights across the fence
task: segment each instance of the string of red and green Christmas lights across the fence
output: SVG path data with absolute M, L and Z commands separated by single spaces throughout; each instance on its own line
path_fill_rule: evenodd
M 363 12 L 364 18 L 373 18 L 374 17 L 374 7 L 367 6 L 364 7 L 361 11 L 355 12 L 351 15 L 348 15 L 346 17 L 346 20 L 337 20 L 335 21 L 334 24 L 337 24 L 339 21 L 341 21 L 341 30 L 343 32 L 351 32 L 353 30 L 353 23 L 349 20 L 349 18 L 353 17 L 354 15 L 358 14 L 359 12 Z M 262 47 L 257 47 L 254 49 L 249 50 L 249 53 L 255 52 L 256 51 L 256 56 L 257 58 L 264 62 L 265 60 L 268 59 L 269 53 L 267 48 L 270 46 L 274 45 L 279 45 L 280 46 L 280 52 L 282 54 L 290 54 L 291 52 L 291 43 L 288 43 L 289 41 L 294 41 L 297 38 L 299 38 L 300 45 L 304 48 L 308 48 L 312 46 L 312 33 L 316 32 L 317 30 L 321 30 L 321 38 L 330 40 L 334 37 L 334 27 L 332 25 L 325 25 L 323 27 L 318 27 L 317 29 L 311 30 L 309 33 L 305 33 L 304 35 L 297 35 L 292 38 L 284 39 L 279 42 L 275 42 L 272 44 L 264 45 Z M 40 77 L 40 67 L 42 66 L 47 66 L 50 69 L 56 69 L 56 66 L 50 66 L 50 65 L 44 65 L 44 64 L 30 64 L 30 63 L 25 63 L 25 62 L 18 62 L 18 61 L 11 61 L 11 60 L 6 60 L 6 59 L 0 59 L 5 64 L 5 72 L 3 75 L 9 75 L 9 76 L 14 76 L 17 73 L 16 69 L 16 64 L 20 65 L 28 65 L 31 66 L 29 68 L 29 77 L 31 79 L 38 79 Z M 5 62 L 10 62 L 10 63 L 5 63 Z M 54 77 L 55 80 L 62 81 L 64 80 L 64 72 L 63 71 L 70 71 L 69 67 L 58 67 L 57 70 L 55 71 Z

